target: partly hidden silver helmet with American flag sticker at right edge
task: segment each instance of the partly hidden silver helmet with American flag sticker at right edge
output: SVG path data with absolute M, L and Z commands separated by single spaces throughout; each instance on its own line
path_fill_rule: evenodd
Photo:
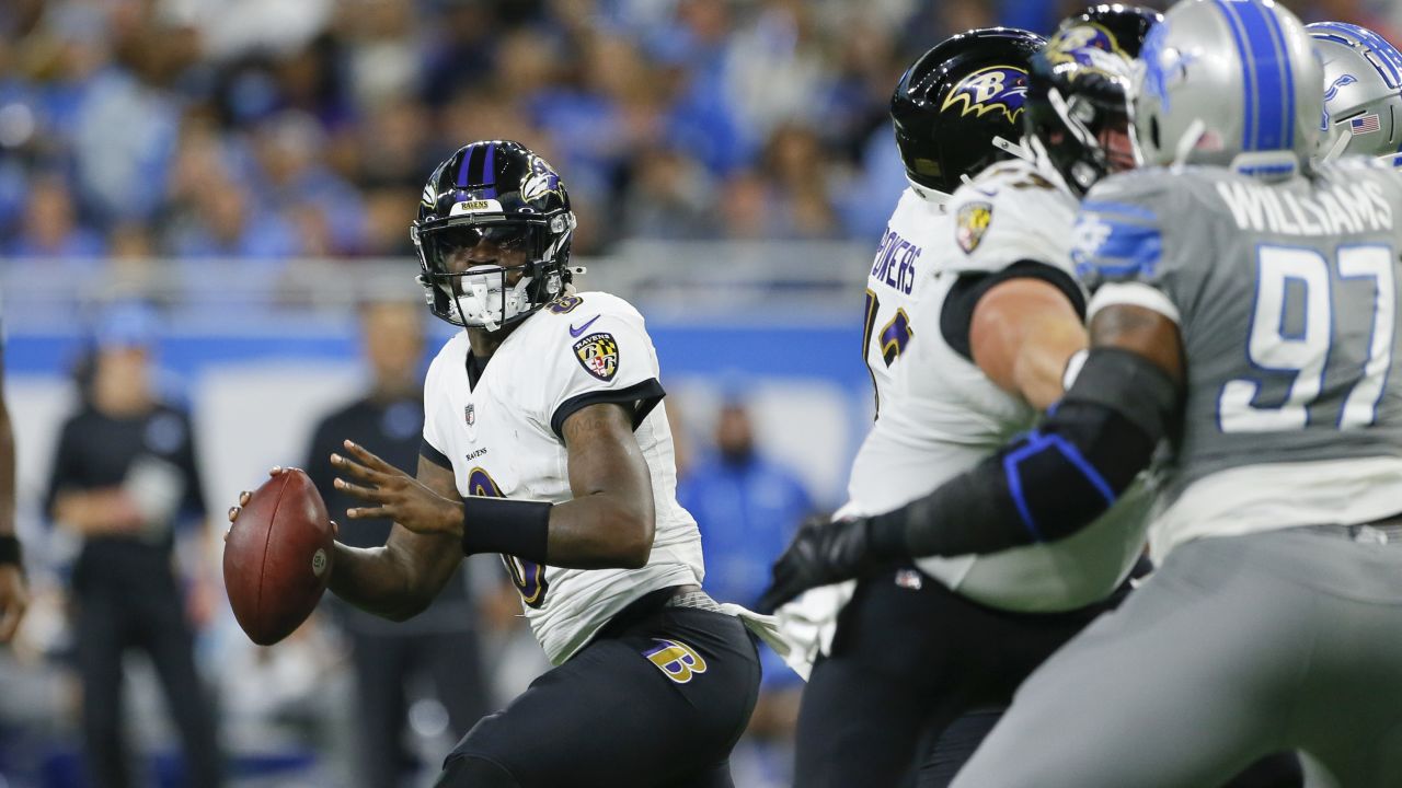
M 1402 52 L 1368 28 L 1305 27 L 1323 59 L 1323 114 L 1315 158 L 1402 153 Z M 1398 161 L 1394 161 L 1396 165 Z

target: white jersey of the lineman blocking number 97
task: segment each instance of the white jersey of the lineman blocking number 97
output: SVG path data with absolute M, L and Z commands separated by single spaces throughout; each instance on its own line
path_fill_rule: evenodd
M 916 299 L 901 307 L 913 330 L 887 370 L 892 379 L 857 454 L 840 515 L 897 509 L 1033 426 L 1037 412 L 1026 401 L 995 386 L 945 341 L 941 311 L 962 275 L 1036 261 L 1074 276 L 1075 208 L 1075 199 L 1032 164 L 1012 160 L 980 172 L 955 192 L 945 216 L 927 220 L 937 234 L 920 254 Z M 897 208 L 887 238 L 925 237 L 899 224 L 907 219 L 917 217 Z M 1133 566 L 1143 548 L 1145 508 L 1147 495 L 1136 489 L 1073 538 L 986 557 L 923 558 L 917 565 L 984 604 L 1026 611 L 1081 607 L 1106 596 Z M 1120 522 L 1124 516 L 1134 523 Z

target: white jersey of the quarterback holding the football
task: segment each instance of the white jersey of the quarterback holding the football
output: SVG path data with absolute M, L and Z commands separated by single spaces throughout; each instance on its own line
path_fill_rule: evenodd
M 468 384 L 468 349 L 467 332 L 453 337 L 423 386 L 423 440 L 451 464 L 460 495 L 569 501 L 565 416 L 600 401 L 637 409 L 635 435 L 656 503 L 646 566 L 562 569 L 502 557 L 550 660 L 569 659 L 639 596 L 700 583 L 701 536 L 676 499 L 658 353 L 642 315 L 608 293 L 562 297 L 502 342 L 475 387 Z

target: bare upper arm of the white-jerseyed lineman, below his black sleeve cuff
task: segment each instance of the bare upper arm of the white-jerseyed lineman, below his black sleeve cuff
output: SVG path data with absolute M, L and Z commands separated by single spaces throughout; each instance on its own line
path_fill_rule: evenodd
M 969 321 L 973 362 L 1000 388 L 1044 411 L 1061 398 L 1067 360 L 1087 345 L 1085 325 L 1056 286 L 1008 279 L 979 299 Z

